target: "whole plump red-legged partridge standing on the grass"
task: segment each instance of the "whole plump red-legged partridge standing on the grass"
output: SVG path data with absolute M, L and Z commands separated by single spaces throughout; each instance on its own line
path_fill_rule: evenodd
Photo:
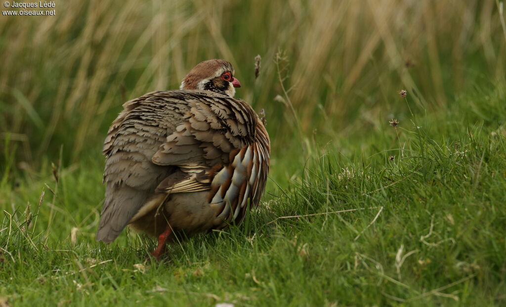
M 123 104 L 105 139 L 105 203 L 97 241 L 123 228 L 158 237 L 156 258 L 176 233 L 240 222 L 259 204 L 270 141 L 257 113 L 234 99 L 240 83 L 224 60 L 195 66 L 180 90 Z

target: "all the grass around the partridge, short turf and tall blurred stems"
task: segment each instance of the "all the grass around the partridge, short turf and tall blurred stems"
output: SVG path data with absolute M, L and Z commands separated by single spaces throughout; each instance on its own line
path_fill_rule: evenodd
M 506 305 L 501 2 L 69 0 L 3 16 L 0 306 Z M 143 235 L 97 243 L 121 104 L 210 58 L 265 109 L 260 208 L 161 262 Z

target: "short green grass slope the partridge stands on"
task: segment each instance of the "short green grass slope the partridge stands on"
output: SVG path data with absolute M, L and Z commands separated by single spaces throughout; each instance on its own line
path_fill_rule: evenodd
M 398 138 L 378 120 L 305 164 L 274 152 L 273 195 L 244 225 L 174 244 L 161 262 L 133 233 L 94 241 L 100 158 L 63 167 L 58 183 L 50 166 L 15 188 L 4 180 L 0 193 L 30 202 L 33 216 L 27 227 L 26 206 L 5 213 L 1 295 L 15 305 L 503 305 L 503 97 L 470 92 L 400 121 Z M 276 219 L 292 215 L 312 216 Z

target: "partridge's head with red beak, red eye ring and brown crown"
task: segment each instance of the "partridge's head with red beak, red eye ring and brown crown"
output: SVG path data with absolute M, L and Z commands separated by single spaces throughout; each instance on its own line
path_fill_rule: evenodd
M 193 67 L 183 78 L 180 90 L 202 90 L 234 97 L 241 83 L 234 78 L 234 67 L 225 60 L 207 60 Z

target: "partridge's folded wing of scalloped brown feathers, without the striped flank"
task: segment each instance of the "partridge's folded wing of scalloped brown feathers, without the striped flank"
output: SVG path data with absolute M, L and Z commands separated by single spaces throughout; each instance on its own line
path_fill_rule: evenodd
M 158 165 L 228 164 L 231 151 L 254 141 L 257 119 L 244 102 L 220 95 L 190 100 L 189 113 L 153 156 Z

